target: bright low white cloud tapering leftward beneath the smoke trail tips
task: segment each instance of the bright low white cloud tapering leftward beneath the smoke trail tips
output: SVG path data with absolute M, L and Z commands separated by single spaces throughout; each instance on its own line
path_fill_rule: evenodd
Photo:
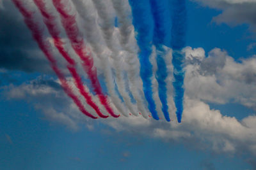
M 246 119 L 243 124 L 244 121 L 256 123 L 253 116 Z M 249 151 L 256 144 L 255 127 L 246 127 L 236 118 L 223 117 L 220 111 L 210 110 L 209 106 L 201 101 L 186 99 L 183 121 L 184 123 L 177 124 L 132 117 L 108 120 L 104 123 L 116 131 L 147 134 L 152 138 L 183 142 L 202 150 L 211 148 L 214 152 L 242 152 L 239 148 Z M 253 150 L 253 153 L 255 151 Z

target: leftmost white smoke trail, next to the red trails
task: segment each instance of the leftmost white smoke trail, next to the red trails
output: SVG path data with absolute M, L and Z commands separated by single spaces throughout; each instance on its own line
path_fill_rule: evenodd
M 104 40 L 102 36 L 100 36 L 99 25 L 96 23 L 95 11 L 92 8 L 92 4 L 89 4 L 90 1 L 86 2 L 86 5 L 83 1 L 72 1 L 74 6 L 76 7 L 77 12 L 83 18 L 85 24 L 85 34 L 87 42 L 92 46 L 93 52 L 96 53 L 97 57 L 99 57 L 102 68 L 104 70 L 104 77 L 106 78 L 106 83 L 108 87 L 109 96 L 111 97 L 115 107 L 118 111 L 120 111 L 123 115 L 128 116 L 127 110 L 122 104 L 120 98 L 116 95 L 115 92 L 115 84 L 114 79 L 111 74 L 111 67 L 109 67 L 109 60 L 106 55 L 104 55 L 104 48 L 102 45 L 104 44 Z

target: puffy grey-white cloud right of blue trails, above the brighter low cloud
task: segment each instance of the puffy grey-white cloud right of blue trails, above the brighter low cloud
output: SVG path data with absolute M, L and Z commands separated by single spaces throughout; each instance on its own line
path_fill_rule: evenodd
M 186 96 L 212 103 L 239 103 L 256 110 L 256 56 L 236 62 L 215 48 L 185 48 Z

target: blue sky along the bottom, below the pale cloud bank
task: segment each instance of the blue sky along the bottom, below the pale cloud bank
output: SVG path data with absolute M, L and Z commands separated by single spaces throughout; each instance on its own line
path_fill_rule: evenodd
M 70 131 L 25 101 L 1 99 L 2 169 L 250 169 L 243 157 L 111 132 L 106 125 Z M 6 137 L 9 136 L 9 137 Z

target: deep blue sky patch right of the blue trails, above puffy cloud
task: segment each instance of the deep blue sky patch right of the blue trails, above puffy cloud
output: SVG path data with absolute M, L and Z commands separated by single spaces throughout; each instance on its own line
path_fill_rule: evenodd
M 188 1 L 188 6 L 187 45 L 202 47 L 206 53 L 213 48 L 225 49 L 235 59 L 255 54 L 255 48 L 247 50 L 247 46 L 255 42 L 255 34 L 248 31 L 248 24 L 231 27 L 225 23 L 216 24 L 212 17 L 220 15 L 221 10 L 202 7 L 191 1 Z

